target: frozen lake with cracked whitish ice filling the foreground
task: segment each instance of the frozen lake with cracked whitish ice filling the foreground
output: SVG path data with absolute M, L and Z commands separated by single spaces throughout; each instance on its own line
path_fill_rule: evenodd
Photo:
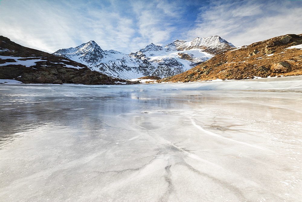
M 292 78 L 0 84 L 0 199 L 301 201 Z

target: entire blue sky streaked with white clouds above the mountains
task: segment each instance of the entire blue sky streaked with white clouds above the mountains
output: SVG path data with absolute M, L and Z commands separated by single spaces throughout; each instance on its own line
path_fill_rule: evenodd
M 219 35 L 235 46 L 302 34 L 302 1 L 1 0 L 0 35 L 49 53 L 94 40 L 124 53 Z

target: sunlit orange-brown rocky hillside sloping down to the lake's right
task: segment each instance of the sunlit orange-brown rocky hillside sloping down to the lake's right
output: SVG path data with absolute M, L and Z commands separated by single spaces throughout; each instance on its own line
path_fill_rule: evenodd
M 302 34 L 287 34 L 221 52 L 196 67 L 157 82 L 253 79 L 302 75 Z

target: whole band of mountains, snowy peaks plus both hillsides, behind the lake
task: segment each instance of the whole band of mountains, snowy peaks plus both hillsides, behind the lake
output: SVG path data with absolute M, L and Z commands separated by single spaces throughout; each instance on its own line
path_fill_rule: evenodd
M 125 79 L 165 77 L 157 83 L 302 75 L 302 34 L 237 48 L 219 36 L 197 37 L 190 42 L 176 40 L 165 47 L 150 44 L 128 55 L 102 50 L 94 41 L 49 54 L 0 36 L 0 79 L 54 84 L 138 83 L 106 74 Z

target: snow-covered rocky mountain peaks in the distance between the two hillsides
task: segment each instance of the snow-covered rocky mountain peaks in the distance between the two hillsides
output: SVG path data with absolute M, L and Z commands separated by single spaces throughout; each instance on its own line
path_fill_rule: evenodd
M 60 49 L 56 56 L 87 65 L 90 69 L 112 77 L 133 79 L 144 76 L 169 77 L 185 72 L 215 54 L 234 47 L 219 36 L 176 40 L 165 47 L 151 43 L 136 53 L 102 50 L 95 41 L 75 48 Z

